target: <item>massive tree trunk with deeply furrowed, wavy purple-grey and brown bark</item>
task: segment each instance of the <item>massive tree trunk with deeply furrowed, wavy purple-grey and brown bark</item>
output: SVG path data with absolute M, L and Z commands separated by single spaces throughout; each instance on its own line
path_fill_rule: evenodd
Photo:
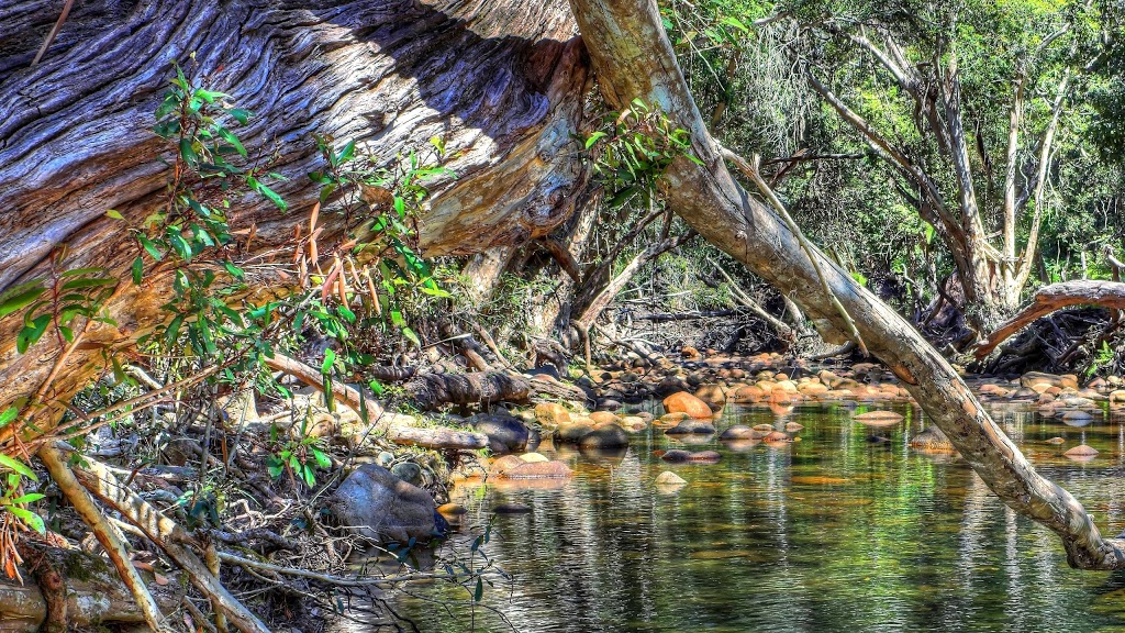
M 519 0 L 154 0 L 78 2 L 44 60 L 30 62 L 62 3 L 6 3 L 0 20 L 0 293 L 43 277 L 61 244 L 66 268 L 105 267 L 128 279 L 137 226 L 169 178 L 148 131 L 173 62 L 256 114 L 243 143 L 289 177 L 290 211 L 244 199 L 233 229 L 254 228 L 244 258 L 289 261 L 296 226 L 316 199 L 312 134 L 358 140 L 374 155 L 444 139 L 457 173 L 430 187 L 421 217 L 428 256 L 472 253 L 548 233 L 585 179 L 572 134 L 587 81 L 567 7 Z M 327 241 L 341 222 L 322 213 Z M 245 244 L 243 244 L 245 246 Z M 277 279 L 260 282 L 277 283 Z M 123 283 L 99 326 L 60 367 L 62 399 L 164 318 L 166 278 Z M 18 355 L 21 314 L 0 321 L 0 404 L 38 391 L 60 349 L 51 337 Z M 57 409 L 42 412 L 50 419 Z

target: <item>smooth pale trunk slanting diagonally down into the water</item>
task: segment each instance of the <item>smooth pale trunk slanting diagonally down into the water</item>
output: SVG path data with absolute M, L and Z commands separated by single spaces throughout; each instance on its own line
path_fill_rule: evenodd
M 708 133 L 651 0 L 570 0 L 603 97 L 623 109 L 634 98 L 659 107 L 692 135 L 702 163 L 680 158 L 665 171 L 668 205 L 706 240 L 804 307 L 848 331 L 817 268 L 866 342 L 1005 503 L 1061 538 L 1071 565 L 1125 569 L 1125 541 L 1102 538 L 1086 509 L 1044 479 L 992 421 L 953 367 L 910 324 L 798 237 L 740 187 Z M 816 261 L 813 261 L 816 259 Z M 819 265 L 819 266 L 817 266 Z

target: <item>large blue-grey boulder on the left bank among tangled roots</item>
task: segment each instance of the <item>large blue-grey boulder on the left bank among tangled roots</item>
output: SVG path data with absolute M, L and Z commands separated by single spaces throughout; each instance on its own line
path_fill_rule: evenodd
M 328 509 L 341 525 L 378 541 L 423 541 L 435 527 L 433 497 L 378 464 L 352 471 L 328 499 Z

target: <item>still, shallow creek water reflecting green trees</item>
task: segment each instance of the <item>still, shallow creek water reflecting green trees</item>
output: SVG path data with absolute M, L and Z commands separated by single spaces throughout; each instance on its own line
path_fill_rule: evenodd
M 780 418 L 731 405 L 720 431 L 806 428 L 780 447 L 714 437 L 687 447 L 719 451 L 713 465 L 660 461 L 654 451 L 685 446 L 650 428 L 616 460 L 559 453 L 576 472 L 556 489 L 464 487 L 453 500 L 469 514 L 447 545 L 462 561 L 495 506 L 531 508 L 497 515 L 484 546 L 511 580 L 493 576 L 475 608 L 471 590 L 446 582 L 392 605 L 434 632 L 1125 631 L 1125 574 L 1068 568 L 1059 541 L 1006 508 L 963 461 L 909 448 L 922 414 L 891 408 L 906 421 L 870 429 L 852 419 L 863 407 Z M 1029 405 L 992 413 L 1102 532 L 1125 527 L 1125 419 L 1073 428 Z M 1066 443 L 1044 442 L 1056 436 Z M 1092 461 L 1062 455 L 1083 442 L 1100 451 Z M 687 485 L 657 489 L 667 470 Z

